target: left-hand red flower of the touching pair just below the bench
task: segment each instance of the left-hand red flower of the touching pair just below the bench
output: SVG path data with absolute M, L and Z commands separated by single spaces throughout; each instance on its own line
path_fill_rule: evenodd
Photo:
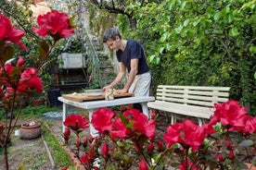
M 170 125 L 166 132 L 163 134 L 163 138 L 165 140 L 165 143 L 171 147 L 174 143 L 183 143 L 183 140 L 180 135 L 180 130 L 182 128 L 183 124 L 176 123 L 174 125 Z

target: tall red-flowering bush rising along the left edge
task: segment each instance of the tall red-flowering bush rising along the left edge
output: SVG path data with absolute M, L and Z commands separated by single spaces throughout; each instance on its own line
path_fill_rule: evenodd
M 23 30 L 13 27 L 6 16 L 0 14 L 0 100 L 6 109 L 6 121 L 1 136 L 0 146 L 4 148 L 6 169 L 8 169 L 7 142 L 13 132 L 23 103 L 29 99 L 32 93 L 43 91 L 42 79 L 39 78 L 38 71 L 45 66 L 48 56 L 52 53 L 56 42 L 62 38 L 67 38 L 74 33 L 74 28 L 70 24 L 69 16 L 59 13 L 57 10 L 48 12 L 37 18 L 39 28 L 32 30 L 39 36 L 49 35 L 49 40 L 42 41 L 39 52 L 42 63 L 39 67 L 30 67 L 25 64 L 23 57 L 15 56 L 15 45 L 19 45 L 20 50 L 26 47 L 20 42 L 25 35 Z M 14 117 L 14 111 L 18 110 L 15 120 L 7 119 Z M 10 114 L 10 115 L 8 115 Z

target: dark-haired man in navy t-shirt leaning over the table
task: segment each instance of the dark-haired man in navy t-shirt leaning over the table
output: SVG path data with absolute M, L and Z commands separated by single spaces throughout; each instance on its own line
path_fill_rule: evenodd
M 110 28 L 103 35 L 103 42 L 110 49 L 116 51 L 118 59 L 119 73 L 108 86 L 103 88 L 103 91 L 113 89 L 124 77 L 126 70 L 128 71 L 128 79 L 122 90 L 117 90 L 117 93 L 134 92 L 134 96 L 148 96 L 151 74 L 147 66 L 147 60 L 144 50 L 138 42 L 133 39 L 122 40 L 119 30 Z M 142 112 L 139 103 L 134 104 L 134 108 Z

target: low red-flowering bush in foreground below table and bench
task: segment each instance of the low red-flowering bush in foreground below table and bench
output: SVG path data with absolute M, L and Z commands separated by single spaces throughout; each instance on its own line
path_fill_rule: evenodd
M 79 135 L 88 127 L 82 115 L 64 125 L 78 134 L 76 154 L 85 169 L 242 169 L 256 159 L 256 117 L 246 113 L 237 101 L 215 104 L 209 123 L 199 127 L 184 120 L 170 125 L 162 139 L 156 139 L 157 116 L 147 119 L 135 109 L 121 114 L 108 108 L 96 110 L 91 123 L 100 137 L 95 139 Z

